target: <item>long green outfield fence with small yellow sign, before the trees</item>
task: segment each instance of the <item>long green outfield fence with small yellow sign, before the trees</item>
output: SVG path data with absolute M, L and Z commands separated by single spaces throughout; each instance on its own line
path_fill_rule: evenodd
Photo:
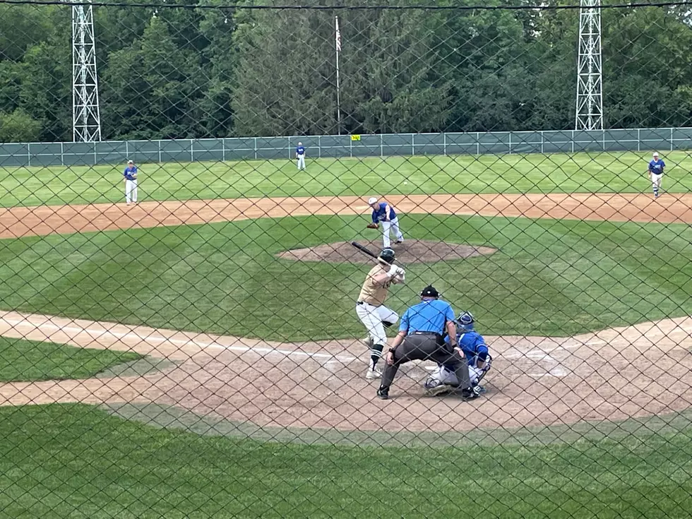
M 692 128 L 602 131 L 388 133 L 354 136 L 288 136 L 0 144 L 1 167 L 91 166 L 136 162 L 226 162 L 292 158 L 302 142 L 311 158 L 410 155 L 583 153 L 692 148 Z

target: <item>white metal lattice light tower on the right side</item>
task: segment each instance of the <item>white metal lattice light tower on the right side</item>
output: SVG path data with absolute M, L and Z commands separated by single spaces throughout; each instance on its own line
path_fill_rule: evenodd
M 601 0 L 580 0 L 577 61 L 577 130 L 603 129 Z

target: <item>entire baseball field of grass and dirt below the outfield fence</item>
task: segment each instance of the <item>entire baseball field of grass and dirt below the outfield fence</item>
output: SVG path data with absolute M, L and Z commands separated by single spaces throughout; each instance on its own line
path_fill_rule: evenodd
M 657 200 L 633 153 L 146 164 L 131 207 L 119 165 L 0 169 L 0 516 L 686 516 L 692 159 L 664 158 Z M 374 399 L 343 245 L 378 243 L 373 195 L 388 305 L 472 311 L 482 398 L 414 364 Z

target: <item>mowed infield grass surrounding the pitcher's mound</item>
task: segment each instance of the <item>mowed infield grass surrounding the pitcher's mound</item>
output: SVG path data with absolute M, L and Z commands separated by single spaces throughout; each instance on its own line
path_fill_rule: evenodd
M 491 256 L 407 266 L 388 305 L 428 283 L 488 334 L 573 335 L 692 313 L 687 225 L 407 215 L 408 237 Z M 0 308 L 271 340 L 362 335 L 367 266 L 278 260 L 358 239 L 362 218 L 287 217 L 0 241 Z

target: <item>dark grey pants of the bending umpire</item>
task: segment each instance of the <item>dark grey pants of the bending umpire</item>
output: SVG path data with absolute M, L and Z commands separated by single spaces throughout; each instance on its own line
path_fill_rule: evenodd
M 446 364 L 454 369 L 460 388 L 471 386 L 469 378 L 469 366 L 451 345 L 446 344 L 441 335 L 436 333 L 413 333 L 408 335 L 394 350 L 393 364 L 387 364 L 382 375 L 381 388 L 389 388 L 392 385 L 396 372 L 401 364 L 410 360 L 434 360 L 438 364 Z

